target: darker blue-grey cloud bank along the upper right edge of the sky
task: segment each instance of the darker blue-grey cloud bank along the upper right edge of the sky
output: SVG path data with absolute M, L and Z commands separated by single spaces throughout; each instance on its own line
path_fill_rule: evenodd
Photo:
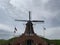
M 50 0 L 45 5 L 45 9 L 50 11 L 53 15 L 51 19 L 51 26 L 60 26 L 60 0 Z M 51 18 L 51 17 L 50 17 Z

